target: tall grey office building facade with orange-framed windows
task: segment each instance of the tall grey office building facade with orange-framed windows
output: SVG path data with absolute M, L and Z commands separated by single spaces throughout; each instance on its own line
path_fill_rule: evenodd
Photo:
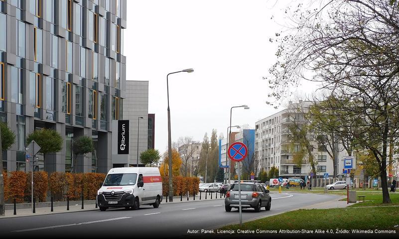
M 16 134 L 4 153 L 5 169 L 27 170 L 25 138 L 40 128 L 57 130 L 64 145 L 39 156 L 39 170 L 112 167 L 112 120 L 122 119 L 126 95 L 126 4 L 0 0 L 0 118 Z M 93 138 L 95 150 L 74 158 L 72 141 L 81 135 Z

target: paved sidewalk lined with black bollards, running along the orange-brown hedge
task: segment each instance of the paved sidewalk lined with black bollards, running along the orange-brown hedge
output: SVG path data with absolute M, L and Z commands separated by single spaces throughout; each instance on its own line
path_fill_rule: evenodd
M 182 201 L 180 201 L 180 196 L 175 196 L 173 197 L 173 202 L 168 202 L 166 203 L 166 197 L 163 197 L 163 200 L 161 202 L 161 205 L 164 204 L 175 204 L 175 203 L 190 203 L 190 202 L 198 202 L 198 201 L 213 201 L 213 200 L 220 200 L 220 194 L 218 193 L 218 198 L 215 198 L 215 193 L 211 196 L 209 196 L 209 193 L 207 195 L 207 199 L 205 199 L 205 193 L 201 193 L 201 200 L 199 200 L 200 194 L 195 195 L 195 201 L 193 196 L 189 197 L 189 200 L 187 201 L 187 196 L 182 196 Z M 222 199 L 224 199 L 223 194 L 222 194 Z M 46 203 L 50 205 L 49 203 Z M 47 214 L 60 214 L 60 213 L 72 213 L 72 212 L 82 212 L 82 211 L 94 211 L 94 210 L 100 210 L 99 208 L 96 208 L 95 206 L 95 201 L 94 200 L 88 200 L 84 201 L 84 209 L 82 209 L 82 202 L 79 201 L 70 201 L 69 202 L 69 211 L 66 210 L 66 202 L 54 202 L 54 205 L 56 204 L 63 204 L 62 206 L 54 206 L 53 207 L 53 212 L 51 212 L 51 207 L 37 207 L 38 205 L 36 204 L 36 213 L 32 213 L 32 209 L 30 208 L 19 208 L 17 204 L 17 209 L 16 209 L 16 215 L 13 215 L 14 210 L 13 210 L 13 205 L 12 204 L 7 204 L 6 205 L 6 210 L 5 210 L 5 216 L 0 216 L 0 220 L 3 218 L 17 218 L 17 217 L 30 217 L 30 216 L 39 216 L 39 215 L 47 215 Z M 26 205 L 24 205 L 26 207 Z

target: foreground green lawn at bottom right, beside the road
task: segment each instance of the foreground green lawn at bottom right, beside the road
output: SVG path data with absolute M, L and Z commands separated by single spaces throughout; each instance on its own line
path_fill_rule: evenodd
M 221 230 L 396 230 L 399 207 L 297 210 Z

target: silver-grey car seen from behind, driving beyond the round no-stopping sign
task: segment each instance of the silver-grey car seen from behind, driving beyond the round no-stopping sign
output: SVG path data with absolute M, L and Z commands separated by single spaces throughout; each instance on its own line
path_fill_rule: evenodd
M 232 208 L 239 208 L 239 197 L 241 197 L 242 208 L 254 208 L 260 212 L 265 207 L 266 211 L 271 208 L 271 197 L 269 190 L 259 183 L 241 183 L 241 195 L 238 192 L 238 183 L 232 184 L 226 193 L 225 210 L 230 212 Z

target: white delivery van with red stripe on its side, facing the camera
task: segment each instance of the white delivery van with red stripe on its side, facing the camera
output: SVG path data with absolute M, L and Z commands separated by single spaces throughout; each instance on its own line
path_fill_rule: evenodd
M 159 207 L 162 201 L 162 180 L 157 167 L 112 168 L 97 192 L 101 211 L 108 208 L 132 208 L 139 205 Z

